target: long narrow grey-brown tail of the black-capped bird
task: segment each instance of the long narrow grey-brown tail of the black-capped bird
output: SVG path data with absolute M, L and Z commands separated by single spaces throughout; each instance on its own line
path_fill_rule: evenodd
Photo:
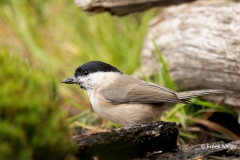
M 177 93 L 179 99 L 188 99 L 198 96 L 205 96 L 210 94 L 226 94 L 231 93 L 232 91 L 228 90 L 215 90 L 215 89 L 205 89 L 205 90 L 196 90 L 196 91 L 186 91 Z

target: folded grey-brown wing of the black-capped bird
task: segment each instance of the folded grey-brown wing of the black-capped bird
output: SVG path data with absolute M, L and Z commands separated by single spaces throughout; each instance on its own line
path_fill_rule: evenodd
M 108 86 L 102 91 L 104 98 L 111 103 L 185 103 L 176 92 L 154 83 L 145 82 L 124 75 L 114 86 Z M 130 82 L 130 83 L 129 83 Z

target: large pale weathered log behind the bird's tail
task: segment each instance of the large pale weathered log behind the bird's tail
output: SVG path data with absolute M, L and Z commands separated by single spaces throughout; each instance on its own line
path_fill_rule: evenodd
M 227 89 L 207 96 L 240 114 L 240 3 L 194 2 L 166 8 L 149 24 L 141 52 L 141 73 L 161 68 L 153 42 L 168 62 L 181 91 Z M 240 122 L 240 119 L 239 119 Z

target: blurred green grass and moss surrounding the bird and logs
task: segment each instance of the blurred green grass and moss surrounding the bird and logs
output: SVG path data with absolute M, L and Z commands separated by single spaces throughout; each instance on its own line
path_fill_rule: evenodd
M 92 112 L 78 86 L 60 82 L 91 60 L 132 74 L 139 67 L 148 22 L 155 14 L 150 10 L 122 18 L 108 13 L 89 16 L 73 0 L 0 0 L 0 159 L 72 158 L 76 146 L 71 135 L 77 134 L 72 128 L 118 127 Z M 160 51 L 159 58 L 163 69 L 146 80 L 175 88 Z M 236 117 L 218 104 L 194 99 L 192 105 L 178 104 L 161 120 L 176 121 L 180 135 L 194 139 L 197 136 L 186 130 L 196 123 L 207 125 L 203 113 Z M 220 134 L 212 130 L 204 134 L 234 139 L 216 125 L 211 129 Z

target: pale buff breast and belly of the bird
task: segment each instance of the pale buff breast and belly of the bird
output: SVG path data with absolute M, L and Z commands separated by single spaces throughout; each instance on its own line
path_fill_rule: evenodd
M 164 110 L 162 105 L 154 104 L 113 104 L 107 101 L 98 90 L 89 90 L 87 94 L 93 110 L 98 115 L 121 126 L 154 121 Z

